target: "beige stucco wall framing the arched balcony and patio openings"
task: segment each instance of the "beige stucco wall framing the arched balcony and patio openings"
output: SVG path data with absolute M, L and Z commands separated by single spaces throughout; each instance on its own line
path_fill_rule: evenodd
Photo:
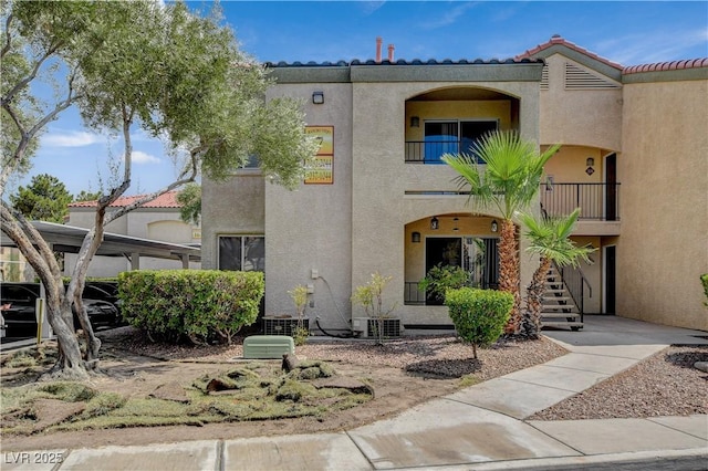
M 353 261 L 352 285 L 368 281 L 379 271 L 392 275 L 386 305 L 400 303 L 405 287 L 405 226 L 435 213 L 469 212 L 467 198 L 406 198 L 406 190 L 455 189 L 455 172 L 445 166 L 415 166 L 404 161 L 406 100 L 426 91 L 459 84 L 444 82 L 354 83 L 353 134 Z M 476 86 L 520 97 L 520 133 L 538 142 L 538 82 L 489 82 Z M 417 168 L 413 168 L 417 167 Z M 399 176 L 407 178 L 399 178 Z M 435 178 L 431 179 L 435 175 Z M 420 182 L 436 185 L 421 188 Z M 435 212 L 431 212 L 435 211 Z M 489 211 L 490 216 L 497 216 Z M 522 248 L 523 250 L 523 248 Z M 522 258 L 522 285 L 533 273 L 533 260 Z M 415 306 L 414 306 L 415 307 Z M 399 306 L 404 323 L 420 323 L 420 310 Z M 356 314 L 356 312 L 355 312 Z

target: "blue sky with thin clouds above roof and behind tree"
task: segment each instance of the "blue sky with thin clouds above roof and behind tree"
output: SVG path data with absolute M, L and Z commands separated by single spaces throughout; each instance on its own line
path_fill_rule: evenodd
M 209 2 L 188 2 L 195 9 Z M 376 36 L 395 59 L 507 59 L 553 34 L 622 65 L 708 56 L 708 1 L 223 1 L 241 49 L 266 62 L 374 59 Z M 159 143 L 134 136 L 128 195 L 154 191 L 175 177 Z M 110 180 L 108 136 L 81 126 L 76 113 L 53 122 L 32 175 L 50 174 L 69 191 L 97 190 Z M 101 177 L 100 177 L 101 176 Z

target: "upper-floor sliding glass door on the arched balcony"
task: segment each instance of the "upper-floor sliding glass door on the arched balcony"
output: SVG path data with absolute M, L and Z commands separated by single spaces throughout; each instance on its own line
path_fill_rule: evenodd
M 442 164 L 445 154 L 471 154 L 472 144 L 482 135 L 499 127 L 497 119 L 435 119 L 426 121 L 423 142 L 406 143 L 406 161 Z

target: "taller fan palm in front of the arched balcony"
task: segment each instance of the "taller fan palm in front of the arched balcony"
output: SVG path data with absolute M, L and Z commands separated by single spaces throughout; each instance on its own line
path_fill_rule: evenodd
M 504 333 L 518 334 L 521 327 L 519 249 L 514 213 L 528 210 L 539 191 L 543 166 L 560 145 L 539 153 L 531 140 L 517 132 L 494 130 L 471 146 L 471 154 L 444 155 L 442 161 L 458 174 L 460 188 L 470 188 L 468 203 L 481 209 L 496 208 L 501 221 L 499 240 L 499 289 L 514 297 Z M 472 198 L 475 197 L 475 198 Z

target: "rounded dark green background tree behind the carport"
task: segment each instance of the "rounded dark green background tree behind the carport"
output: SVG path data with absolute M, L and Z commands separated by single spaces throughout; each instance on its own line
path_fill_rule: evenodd
M 27 187 L 18 188 L 10 195 L 12 206 L 30 220 L 64 222 L 69 216 L 71 193 L 56 177 L 41 174 L 32 177 Z

